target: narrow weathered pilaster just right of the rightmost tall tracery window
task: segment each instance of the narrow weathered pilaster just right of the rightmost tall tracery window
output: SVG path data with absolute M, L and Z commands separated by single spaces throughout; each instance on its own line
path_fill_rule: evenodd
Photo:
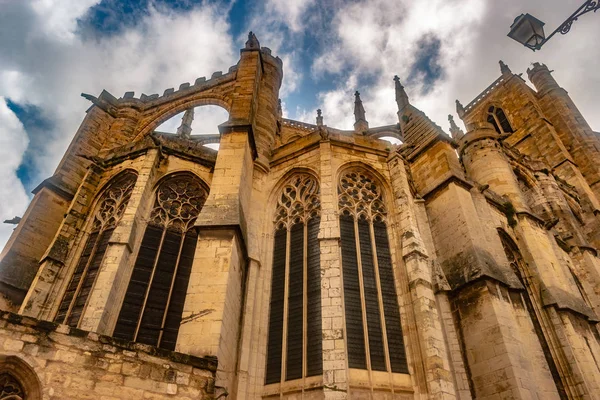
M 398 215 L 402 264 L 406 269 L 407 279 L 406 282 L 401 279 L 402 286 L 396 287 L 399 291 L 408 288 L 412 307 L 406 319 L 410 321 L 409 325 L 414 323 L 416 326 L 414 332 L 406 325 L 403 327 L 409 330 L 406 346 L 410 346 L 407 350 L 410 350 L 408 354 L 413 358 L 412 372 L 415 374 L 415 382 L 425 385 L 419 391 L 426 392 L 434 399 L 453 399 L 456 396 L 455 388 L 433 291 L 431 260 L 421 239 L 405 165 L 399 155 L 393 154 L 388 160 L 388 166 L 392 178 L 394 208 Z M 400 265 L 398 261 L 397 265 Z M 395 275 L 398 279 L 398 276 L 404 274 L 396 271 Z

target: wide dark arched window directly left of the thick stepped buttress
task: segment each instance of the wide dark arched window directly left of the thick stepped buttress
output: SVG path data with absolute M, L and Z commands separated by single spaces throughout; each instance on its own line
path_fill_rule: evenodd
M 175 349 L 198 241 L 194 222 L 207 197 L 190 173 L 160 183 L 113 336 Z

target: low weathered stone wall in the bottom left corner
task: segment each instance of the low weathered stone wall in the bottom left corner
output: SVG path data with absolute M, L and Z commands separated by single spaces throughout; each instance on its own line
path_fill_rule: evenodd
M 43 400 L 214 398 L 215 358 L 1 312 L 0 370 L 13 357 L 31 369 L 28 381 L 37 383 Z

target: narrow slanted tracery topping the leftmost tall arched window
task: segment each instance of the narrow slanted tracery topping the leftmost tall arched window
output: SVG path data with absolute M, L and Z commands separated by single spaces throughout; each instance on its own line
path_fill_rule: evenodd
M 92 231 L 114 228 L 123 216 L 127 202 L 137 180 L 131 171 L 118 176 L 102 194 L 102 200 L 94 218 Z

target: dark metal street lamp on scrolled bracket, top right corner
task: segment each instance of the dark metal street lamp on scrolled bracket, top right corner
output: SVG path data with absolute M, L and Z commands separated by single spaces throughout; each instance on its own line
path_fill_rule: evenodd
M 521 14 L 515 18 L 515 21 L 510 26 L 508 37 L 536 51 L 541 49 L 544 43 L 550 40 L 557 32 L 563 35 L 569 32 L 571 25 L 577 21 L 577 18 L 590 11 L 596 12 L 598 9 L 600 9 L 600 0 L 587 0 L 548 37 L 544 34 L 544 23 L 542 21 L 533 15 Z

